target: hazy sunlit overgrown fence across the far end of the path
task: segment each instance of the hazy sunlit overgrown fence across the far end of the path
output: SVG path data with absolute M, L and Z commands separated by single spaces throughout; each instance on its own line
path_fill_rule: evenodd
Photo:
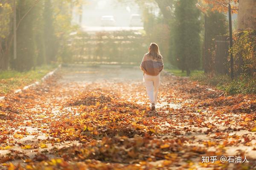
M 147 51 L 142 34 L 134 31 L 76 34 L 69 44 L 71 62 L 139 63 Z

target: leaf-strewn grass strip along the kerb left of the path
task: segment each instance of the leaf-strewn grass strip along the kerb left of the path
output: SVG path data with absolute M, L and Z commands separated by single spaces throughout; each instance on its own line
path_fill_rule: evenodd
M 56 68 L 57 65 L 44 65 L 35 68 L 35 70 L 17 72 L 13 70 L 0 71 L 0 95 L 11 93 L 12 91 L 23 88 L 35 81 L 40 80 L 49 71 Z

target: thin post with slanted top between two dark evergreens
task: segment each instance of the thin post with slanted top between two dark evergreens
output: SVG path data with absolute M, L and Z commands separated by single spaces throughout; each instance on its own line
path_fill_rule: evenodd
M 208 58 L 208 45 L 207 45 L 207 14 L 203 10 L 202 6 L 197 3 L 195 6 L 204 13 L 204 73 L 208 73 L 209 69 L 209 58 Z

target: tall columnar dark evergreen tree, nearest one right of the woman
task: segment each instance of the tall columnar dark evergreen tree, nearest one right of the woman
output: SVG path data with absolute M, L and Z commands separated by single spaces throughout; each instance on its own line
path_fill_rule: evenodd
M 196 0 L 179 0 L 175 6 L 175 59 L 178 68 L 191 70 L 200 66 L 200 11 Z

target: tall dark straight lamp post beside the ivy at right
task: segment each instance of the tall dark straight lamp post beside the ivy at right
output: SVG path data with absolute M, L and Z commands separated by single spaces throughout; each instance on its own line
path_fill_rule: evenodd
M 234 79 L 234 63 L 233 63 L 233 36 L 232 36 L 232 17 L 231 17 L 231 5 L 228 3 L 228 20 L 229 20 L 229 32 L 230 32 L 230 77 Z

